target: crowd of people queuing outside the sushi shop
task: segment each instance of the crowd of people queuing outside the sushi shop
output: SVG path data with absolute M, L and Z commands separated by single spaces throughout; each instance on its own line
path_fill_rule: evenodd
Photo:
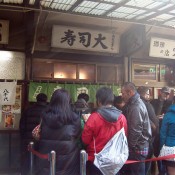
M 128 140 L 129 160 L 117 175 L 156 175 L 155 162 L 144 162 L 158 157 L 163 145 L 175 146 L 175 98 L 170 101 L 170 89 L 163 87 L 158 99 L 150 101 L 150 90 L 136 89 L 131 82 L 122 85 L 121 96 L 115 96 L 108 87 L 96 92 L 96 108 L 88 106 L 89 96 L 82 93 L 71 104 L 64 89 L 54 91 L 50 103 L 47 96 L 39 94 L 37 103 L 22 115 L 20 132 L 22 140 L 21 174 L 29 173 L 27 144 L 32 130 L 41 123 L 40 139 L 35 149 L 42 154 L 56 152 L 56 175 L 80 175 L 80 150 L 88 153 L 87 175 L 102 175 L 94 165 L 94 153 L 124 128 Z M 94 149 L 95 139 L 95 149 Z M 36 159 L 36 175 L 48 175 L 47 160 Z M 175 175 L 175 161 L 157 161 L 159 175 Z

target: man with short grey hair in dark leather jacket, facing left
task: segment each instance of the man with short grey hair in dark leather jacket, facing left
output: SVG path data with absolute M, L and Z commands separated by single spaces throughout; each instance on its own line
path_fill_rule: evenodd
M 149 140 L 151 139 L 148 112 L 133 83 L 124 83 L 121 91 L 122 98 L 126 103 L 124 115 L 128 122 L 129 160 L 143 161 L 148 155 Z M 126 165 L 125 174 L 145 175 L 145 163 Z

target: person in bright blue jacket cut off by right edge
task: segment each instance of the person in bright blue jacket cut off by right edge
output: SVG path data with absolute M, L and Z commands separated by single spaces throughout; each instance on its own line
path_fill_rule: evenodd
M 167 113 L 164 115 L 160 129 L 160 148 L 162 146 L 175 146 L 175 97 Z M 167 167 L 168 175 L 175 175 L 175 161 L 163 161 Z

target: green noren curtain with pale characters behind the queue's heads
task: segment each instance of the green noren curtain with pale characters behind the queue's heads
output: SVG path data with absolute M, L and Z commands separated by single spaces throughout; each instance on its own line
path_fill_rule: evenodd
M 69 92 L 72 102 L 77 100 L 77 97 L 81 93 L 89 95 L 89 102 L 96 103 L 96 92 L 100 87 L 107 86 L 111 88 L 115 95 L 119 95 L 121 91 L 117 85 L 95 85 L 95 84 L 58 84 L 58 83 L 37 83 L 30 82 L 29 85 L 29 101 L 36 102 L 36 96 L 39 93 L 45 93 L 50 101 L 53 92 L 57 89 L 65 89 Z

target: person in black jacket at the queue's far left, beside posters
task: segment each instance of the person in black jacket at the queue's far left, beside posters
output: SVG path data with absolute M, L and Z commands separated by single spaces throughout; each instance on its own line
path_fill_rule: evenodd
M 29 172 L 29 152 L 27 146 L 32 138 L 32 130 L 40 123 L 43 111 L 47 108 L 47 95 L 40 93 L 36 96 L 37 102 L 26 109 L 20 119 L 20 134 L 21 134 L 21 175 L 27 175 Z M 35 142 L 37 149 L 37 142 Z

